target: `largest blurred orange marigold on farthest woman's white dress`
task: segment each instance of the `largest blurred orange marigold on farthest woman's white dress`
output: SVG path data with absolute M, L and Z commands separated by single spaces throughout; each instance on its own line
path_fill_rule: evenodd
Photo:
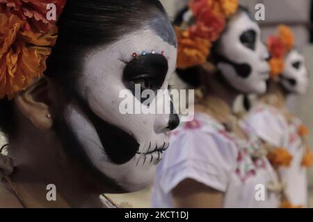
M 267 158 L 273 167 L 289 167 L 292 160 L 292 156 L 285 148 L 274 148 L 268 152 Z

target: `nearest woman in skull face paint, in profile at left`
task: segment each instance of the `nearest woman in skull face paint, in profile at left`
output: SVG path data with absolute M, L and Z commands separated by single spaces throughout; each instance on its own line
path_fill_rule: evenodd
M 4 0 L 0 44 L 0 207 L 102 207 L 152 182 L 179 119 L 123 115 L 119 95 L 168 89 L 177 40 L 158 0 Z

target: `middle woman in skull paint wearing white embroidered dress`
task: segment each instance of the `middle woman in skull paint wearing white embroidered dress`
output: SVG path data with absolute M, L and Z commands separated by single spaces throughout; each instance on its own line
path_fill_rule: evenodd
M 202 89 L 195 118 L 171 133 L 157 169 L 154 207 L 278 207 L 278 178 L 262 142 L 232 112 L 238 94 L 264 93 L 268 51 L 234 0 L 190 1 L 175 25 L 177 73 Z M 266 187 L 269 189 L 266 190 Z M 264 200 L 264 201 L 259 201 Z

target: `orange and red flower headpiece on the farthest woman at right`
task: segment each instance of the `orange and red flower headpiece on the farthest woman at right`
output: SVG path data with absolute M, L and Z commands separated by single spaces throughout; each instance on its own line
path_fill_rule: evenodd
M 268 61 L 271 78 L 275 78 L 284 71 L 285 57 L 294 48 L 294 33 L 288 26 L 278 26 L 278 33 L 268 38 L 267 47 L 271 54 L 271 60 Z

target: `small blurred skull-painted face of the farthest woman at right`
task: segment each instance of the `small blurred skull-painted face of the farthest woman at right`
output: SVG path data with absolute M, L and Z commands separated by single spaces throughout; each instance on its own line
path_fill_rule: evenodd
M 295 49 L 290 51 L 285 58 L 280 82 L 288 92 L 295 94 L 307 92 L 309 73 L 305 67 L 305 58 Z

